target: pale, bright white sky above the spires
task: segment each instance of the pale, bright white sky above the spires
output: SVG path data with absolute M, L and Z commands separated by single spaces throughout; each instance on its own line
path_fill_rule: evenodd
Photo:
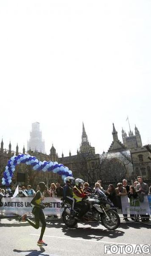
M 39 122 L 45 149 L 76 154 L 82 122 L 101 154 L 112 123 L 151 143 L 151 1 L 1 0 L 0 140 L 27 149 Z

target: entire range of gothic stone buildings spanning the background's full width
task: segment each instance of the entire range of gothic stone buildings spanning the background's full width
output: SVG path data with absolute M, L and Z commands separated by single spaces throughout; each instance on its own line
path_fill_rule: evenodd
M 127 178 L 129 181 L 136 179 L 138 175 L 143 176 L 145 181 L 151 182 L 151 153 L 144 147 L 142 147 L 141 137 L 138 129 L 135 127 L 135 135 L 130 131 L 129 137 L 127 137 L 125 131 L 122 131 L 123 143 L 118 139 L 115 125 L 113 124 L 112 130 L 112 143 L 107 153 L 103 152 L 102 155 L 95 154 L 95 148 L 91 146 L 88 140 L 87 133 L 82 127 L 82 137 L 80 148 L 77 150 L 77 154 L 72 155 L 69 151 L 69 156 L 58 157 L 56 149 L 52 145 L 50 148 L 50 154 L 43 154 L 37 150 L 34 146 L 32 150 L 29 148 L 28 153 L 34 155 L 40 161 L 57 161 L 63 163 L 73 172 L 73 176 L 80 177 L 84 181 L 89 183 L 95 183 L 100 178 L 103 180 L 103 184 L 106 186 L 109 183 L 117 184 L 117 181 L 121 181 Z M 131 143 L 128 141 L 131 141 Z M 7 165 L 8 160 L 14 154 L 20 153 L 26 154 L 25 147 L 22 152 L 19 151 L 18 144 L 16 151 L 11 150 L 11 142 L 8 145 L 8 150 L 4 149 L 3 140 L 0 145 L 0 176 L 3 176 L 3 171 Z M 0 177 L 0 179 L 1 179 Z M 62 183 L 62 177 L 54 174 L 53 172 L 34 171 L 31 166 L 26 164 L 20 164 L 16 166 L 12 183 L 19 185 L 31 184 L 36 186 L 40 181 L 45 181 L 49 186 L 52 182 L 59 181 Z

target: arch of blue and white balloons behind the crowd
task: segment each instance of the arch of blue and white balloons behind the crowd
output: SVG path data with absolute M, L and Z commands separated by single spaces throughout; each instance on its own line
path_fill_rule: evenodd
M 62 179 L 64 180 L 67 176 L 73 176 L 72 171 L 69 170 L 68 167 L 63 164 L 59 164 L 57 162 L 52 161 L 39 161 L 36 157 L 31 156 L 30 154 L 19 154 L 18 156 L 13 156 L 8 161 L 7 166 L 5 167 L 5 171 L 3 172 L 2 184 L 9 186 L 12 181 L 12 177 L 14 176 L 15 166 L 20 163 L 25 163 L 27 165 L 31 165 L 33 170 L 35 171 L 43 171 L 43 172 L 53 172 L 59 175 L 62 175 Z

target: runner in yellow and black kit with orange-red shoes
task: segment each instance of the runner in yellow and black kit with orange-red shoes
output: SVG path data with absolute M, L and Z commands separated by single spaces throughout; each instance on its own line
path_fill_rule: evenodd
M 40 204 L 41 201 L 44 199 L 43 192 L 46 189 L 45 182 L 40 182 L 39 188 L 40 188 L 40 190 L 38 190 L 36 192 L 35 197 L 31 200 L 31 204 L 34 205 L 32 213 L 35 215 L 35 223 L 33 221 L 31 221 L 29 218 L 27 218 L 27 214 L 22 215 L 20 217 L 20 221 L 28 221 L 28 223 L 36 229 L 39 229 L 39 221 L 41 221 L 42 230 L 41 230 L 41 234 L 40 234 L 39 240 L 37 242 L 37 245 L 46 246 L 47 244 L 42 240 L 42 237 L 44 235 L 45 228 L 46 228 L 45 215 L 44 215 L 44 212 L 42 211 L 42 209 L 44 209 L 45 206 Z

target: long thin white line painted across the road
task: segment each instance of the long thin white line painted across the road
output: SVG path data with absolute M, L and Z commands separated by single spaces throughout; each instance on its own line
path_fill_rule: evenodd
M 38 234 L 30 234 L 31 236 L 39 236 Z M 56 239 L 68 239 L 68 240 L 76 240 L 76 241 L 89 241 L 89 242 L 95 242 L 95 243 L 108 243 L 108 244 L 125 244 L 125 243 L 116 243 L 116 242 L 110 242 L 110 241 L 95 241 L 95 240 L 90 240 L 90 239 L 77 239 L 77 238 L 72 238 L 72 237 L 62 237 L 62 236 L 48 236 L 44 235 L 45 237 L 50 237 L 50 238 L 56 238 Z M 99 239 L 99 238 L 98 238 Z M 130 243 L 129 243 L 130 244 Z M 128 245 L 128 244 L 125 244 Z

